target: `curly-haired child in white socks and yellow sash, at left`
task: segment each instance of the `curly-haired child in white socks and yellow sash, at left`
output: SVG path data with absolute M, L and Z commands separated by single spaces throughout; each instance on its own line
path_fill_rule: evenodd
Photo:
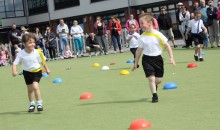
M 18 74 L 16 65 L 21 63 L 23 69 L 23 75 L 25 83 L 28 89 L 28 98 L 30 106 L 28 112 L 34 112 L 35 110 L 35 99 L 37 103 L 37 110 L 43 111 L 41 92 L 39 89 L 39 82 L 42 76 L 42 68 L 40 63 L 44 66 L 46 72 L 49 74 L 50 70 L 45 63 L 45 57 L 41 51 L 34 49 L 35 47 L 35 36 L 33 34 L 24 34 L 22 36 L 22 42 L 24 49 L 21 50 L 13 63 L 12 75 Z

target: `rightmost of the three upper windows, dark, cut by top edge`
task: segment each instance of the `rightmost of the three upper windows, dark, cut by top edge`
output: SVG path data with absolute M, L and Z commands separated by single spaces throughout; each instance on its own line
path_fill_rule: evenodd
M 79 6 L 79 0 L 54 0 L 55 10 Z

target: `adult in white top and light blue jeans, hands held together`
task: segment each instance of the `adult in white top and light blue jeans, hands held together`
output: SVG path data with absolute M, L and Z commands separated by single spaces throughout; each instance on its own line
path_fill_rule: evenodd
M 60 49 L 60 55 L 61 58 L 63 58 L 64 55 L 64 48 L 69 44 L 68 42 L 68 33 L 69 28 L 64 23 L 63 19 L 60 19 L 60 24 L 57 25 L 57 34 L 59 35 L 59 49 Z

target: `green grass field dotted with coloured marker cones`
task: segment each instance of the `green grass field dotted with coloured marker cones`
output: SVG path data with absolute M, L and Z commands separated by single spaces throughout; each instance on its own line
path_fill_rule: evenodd
M 186 67 L 193 61 L 193 49 L 174 50 L 175 68 L 164 52 L 165 75 L 155 104 L 142 68 L 119 74 L 122 69 L 130 71 L 132 64 L 126 61 L 131 53 L 50 61 L 52 73 L 40 83 L 44 111 L 31 114 L 23 76 L 13 78 L 11 67 L 1 67 L 0 130 L 128 130 L 138 118 L 148 120 L 152 130 L 219 130 L 220 50 L 204 51 L 205 61 L 196 62 L 193 69 Z M 92 67 L 95 62 L 110 70 Z M 110 66 L 111 62 L 116 64 Z M 57 77 L 63 82 L 52 83 Z M 163 90 L 171 81 L 178 88 Z M 94 98 L 79 100 L 83 92 Z

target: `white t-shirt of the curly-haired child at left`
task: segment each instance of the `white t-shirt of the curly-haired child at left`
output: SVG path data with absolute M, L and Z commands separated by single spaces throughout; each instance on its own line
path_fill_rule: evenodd
M 46 59 L 44 57 L 44 59 Z M 33 71 L 41 67 L 42 59 L 39 52 L 34 49 L 33 52 L 27 53 L 25 49 L 21 50 L 14 61 L 14 65 L 21 64 L 22 69 L 25 71 Z

